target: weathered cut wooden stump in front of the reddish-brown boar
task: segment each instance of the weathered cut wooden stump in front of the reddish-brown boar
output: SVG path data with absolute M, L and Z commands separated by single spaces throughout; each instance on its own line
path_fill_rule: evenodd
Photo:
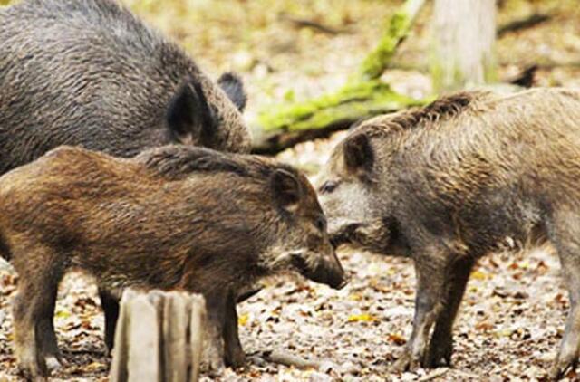
M 197 381 L 205 319 L 206 303 L 200 295 L 126 290 L 111 381 Z

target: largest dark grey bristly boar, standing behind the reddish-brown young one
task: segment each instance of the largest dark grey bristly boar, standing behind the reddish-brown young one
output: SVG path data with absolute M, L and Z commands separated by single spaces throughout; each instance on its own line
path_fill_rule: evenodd
M 0 174 L 62 144 L 131 157 L 171 142 L 247 152 L 237 76 L 210 81 L 111 0 L 0 10 Z M 116 298 L 100 290 L 109 349 Z

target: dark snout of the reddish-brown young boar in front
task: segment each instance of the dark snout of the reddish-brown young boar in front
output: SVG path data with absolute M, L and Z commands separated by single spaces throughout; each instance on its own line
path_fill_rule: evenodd
M 309 264 L 303 256 L 293 256 L 292 262 L 305 278 L 333 289 L 342 289 L 350 281 L 334 253 L 329 260 L 319 260 L 314 264 Z

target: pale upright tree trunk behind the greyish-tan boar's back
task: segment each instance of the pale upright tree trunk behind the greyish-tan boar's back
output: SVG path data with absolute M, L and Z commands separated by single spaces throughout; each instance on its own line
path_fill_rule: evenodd
M 495 0 L 435 0 L 431 74 L 436 89 L 495 80 Z

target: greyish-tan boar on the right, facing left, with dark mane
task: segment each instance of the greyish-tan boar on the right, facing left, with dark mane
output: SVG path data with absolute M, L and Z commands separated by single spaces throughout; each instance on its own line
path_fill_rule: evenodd
M 334 149 L 319 182 L 334 244 L 414 260 L 415 318 L 396 368 L 449 364 L 473 264 L 507 236 L 542 232 L 556 246 L 571 301 L 551 376 L 575 365 L 580 92 L 465 92 L 371 119 Z

